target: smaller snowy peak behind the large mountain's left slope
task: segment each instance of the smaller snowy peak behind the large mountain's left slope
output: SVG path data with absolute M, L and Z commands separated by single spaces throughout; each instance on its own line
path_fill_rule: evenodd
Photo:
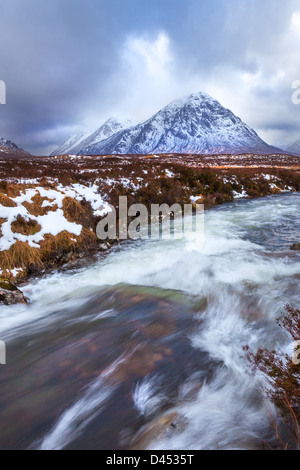
M 85 154 L 85 149 L 91 145 L 97 145 L 105 139 L 108 139 L 117 132 L 129 127 L 130 121 L 120 122 L 116 118 L 110 118 L 94 132 L 85 132 L 74 134 L 66 142 L 59 146 L 50 156 L 64 154 Z

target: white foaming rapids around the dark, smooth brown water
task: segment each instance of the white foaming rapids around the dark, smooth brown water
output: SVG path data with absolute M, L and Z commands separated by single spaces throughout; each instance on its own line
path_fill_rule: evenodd
M 271 437 L 268 413 L 273 409 L 258 399 L 262 382 L 249 374 L 242 347 L 286 351 L 289 346 L 275 320 L 286 304 L 300 304 L 300 256 L 289 251 L 299 241 L 299 202 L 294 194 L 223 205 L 205 214 L 203 246 L 187 232 L 183 240 L 130 244 L 90 267 L 32 282 L 25 288 L 29 307 L 0 310 L 0 338 L 9 343 L 29 330 L 52 328 L 100 286 L 157 286 L 205 297 L 208 306 L 199 313 L 201 326 L 190 342 L 222 366 L 193 400 L 185 399 L 189 381 L 182 384 L 174 410 L 184 417 L 184 429 L 151 442 L 150 448 L 253 448 Z M 84 432 L 109 396 L 99 380 L 41 436 L 42 448 L 63 448 Z M 146 377 L 133 390 L 133 403 L 147 415 L 164 396 L 163 384 Z

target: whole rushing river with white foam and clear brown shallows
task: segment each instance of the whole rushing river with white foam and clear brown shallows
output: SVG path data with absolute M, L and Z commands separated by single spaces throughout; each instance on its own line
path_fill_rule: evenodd
M 300 195 L 224 204 L 205 239 L 128 243 L 0 308 L 0 448 L 256 449 L 276 445 L 244 345 L 291 350 Z M 266 444 L 267 443 L 267 444 Z

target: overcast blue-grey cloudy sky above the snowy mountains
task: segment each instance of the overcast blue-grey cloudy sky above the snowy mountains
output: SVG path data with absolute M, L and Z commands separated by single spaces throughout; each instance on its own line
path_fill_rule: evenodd
M 0 0 L 0 80 L 0 136 L 34 154 L 198 91 L 288 144 L 300 139 L 300 2 Z

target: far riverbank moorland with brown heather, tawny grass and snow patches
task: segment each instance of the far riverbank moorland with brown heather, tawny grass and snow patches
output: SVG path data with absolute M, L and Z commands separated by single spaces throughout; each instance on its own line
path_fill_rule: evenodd
M 300 190 L 299 157 L 126 155 L 0 158 L 0 276 L 16 283 L 81 266 L 117 240 L 96 226 L 128 204 L 223 202 Z

